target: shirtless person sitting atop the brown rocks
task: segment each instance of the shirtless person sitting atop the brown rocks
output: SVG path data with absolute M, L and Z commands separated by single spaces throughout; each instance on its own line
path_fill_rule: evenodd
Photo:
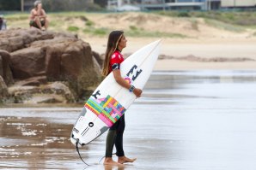
M 49 21 L 46 16 L 46 11 L 42 8 L 41 1 L 34 2 L 34 9 L 30 12 L 29 26 L 39 28 L 40 30 L 47 30 Z M 43 29 L 45 27 L 45 29 Z

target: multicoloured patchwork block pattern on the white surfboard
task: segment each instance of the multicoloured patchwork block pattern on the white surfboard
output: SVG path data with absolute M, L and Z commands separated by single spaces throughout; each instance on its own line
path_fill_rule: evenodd
M 125 107 L 109 95 L 106 98 L 90 97 L 85 103 L 85 107 L 96 114 L 108 127 L 113 126 L 125 114 L 126 110 Z

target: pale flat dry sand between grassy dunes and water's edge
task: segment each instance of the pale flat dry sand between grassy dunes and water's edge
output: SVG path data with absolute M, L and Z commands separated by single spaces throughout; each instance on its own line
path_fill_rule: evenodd
M 132 52 L 149 44 L 157 38 L 127 38 L 124 54 Z M 85 39 L 86 40 L 86 39 Z M 103 54 L 106 50 L 107 38 L 90 38 L 88 40 L 94 51 Z M 218 57 L 234 62 L 200 62 L 179 59 L 159 59 L 155 70 L 199 70 L 199 69 L 256 69 L 256 38 L 208 38 L 208 39 L 175 39 L 163 38 L 161 54 L 165 56 L 197 56 L 206 61 Z M 189 58 L 189 57 L 188 57 Z M 252 61 L 235 59 L 251 59 Z

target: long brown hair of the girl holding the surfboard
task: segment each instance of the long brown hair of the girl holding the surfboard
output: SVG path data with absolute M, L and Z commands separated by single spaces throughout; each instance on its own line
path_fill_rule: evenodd
M 122 38 L 124 32 L 122 31 L 113 31 L 109 33 L 108 40 L 107 40 L 107 50 L 105 53 L 105 60 L 103 62 L 103 69 L 102 69 L 102 75 L 107 76 L 109 72 L 109 63 L 111 56 L 113 55 L 113 52 L 117 50 L 119 41 Z

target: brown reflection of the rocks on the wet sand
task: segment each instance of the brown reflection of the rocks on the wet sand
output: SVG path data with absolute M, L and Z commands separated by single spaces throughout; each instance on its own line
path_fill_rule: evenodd
M 1 157 L 13 162 L 13 167 L 30 168 L 46 168 L 46 161 L 55 155 L 65 155 L 68 160 L 65 149 L 73 149 L 70 129 L 71 125 L 49 124 L 40 118 L 2 117 Z

